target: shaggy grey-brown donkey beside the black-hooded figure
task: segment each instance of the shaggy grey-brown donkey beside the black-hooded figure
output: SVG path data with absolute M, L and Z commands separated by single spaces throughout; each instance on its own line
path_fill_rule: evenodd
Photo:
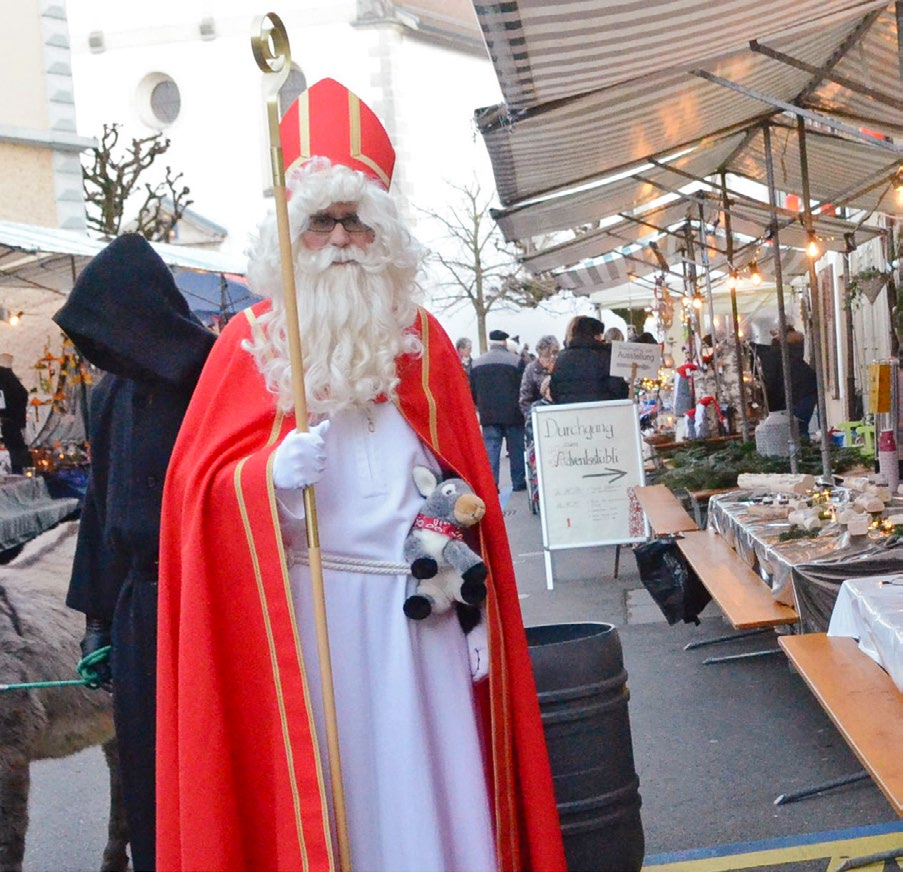
M 77 523 L 0 567 L 0 683 L 74 678 L 84 619 L 65 604 Z M 41 544 L 46 539 L 46 544 Z M 29 765 L 102 745 L 110 820 L 102 870 L 128 866 L 128 832 L 109 694 L 81 687 L 0 692 L 0 870 L 18 872 L 28 829 Z

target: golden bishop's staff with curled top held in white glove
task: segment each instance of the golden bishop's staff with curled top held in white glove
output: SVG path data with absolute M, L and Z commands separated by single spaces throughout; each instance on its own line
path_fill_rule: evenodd
M 251 50 L 260 69 L 268 75 L 267 122 L 270 140 L 270 169 L 273 177 L 273 199 L 279 232 L 279 255 L 282 267 L 282 292 L 285 298 L 285 321 L 289 357 L 292 367 L 292 396 L 295 402 L 295 427 L 308 429 L 307 397 L 304 393 L 304 364 L 301 332 L 298 322 L 298 298 L 295 290 L 294 258 L 285 192 L 285 166 L 279 137 L 279 89 L 291 70 L 288 34 L 278 15 L 270 12 L 256 18 L 252 25 Z M 305 526 L 307 528 L 308 566 L 313 589 L 314 620 L 317 628 L 317 655 L 320 681 L 323 685 L 323 714 L 326 721 L 326 745 L 329 775 L 332 783 L 333 814 L 339 848 L 339 868 L 351 872 L 351 846 L 348 841 L 348 819 L 345 811 L 345 789 L 339 754 L 339 730 L 336 717 L 335 691 L 332 681 L 332 659 L 329 653 L 329 630 L 326 624 L 326 593 L 323 585 L 323 561 L 317 524 L 317 503 L 313 486 L 304 488 Z

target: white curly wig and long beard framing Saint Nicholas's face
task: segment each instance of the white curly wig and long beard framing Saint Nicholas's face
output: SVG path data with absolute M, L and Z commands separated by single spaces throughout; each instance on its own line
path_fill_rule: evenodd
M 360 172 L 314 158 L 293 173 L 287 188 L 311 414 L 328 416 L 380 396 L 394 398 L 395 359 L 423 351 L 409 332 L 417 314 L 420 246 L 401 223 L 388 193 Z M 327 245 L 311 250 L 301 242 L 309 217 L 334 203 L 357 204 L 360 219 L 374 231 L 366 249 Z M 263 337 L 246 341 L 244 347 L 279 408 L 288 412 L 293 406 L 291 365 L 274 214 L 263 220 L 252 240 L 248 281 L 255 293 L 272 300 L 272 310 L 260 317 Z

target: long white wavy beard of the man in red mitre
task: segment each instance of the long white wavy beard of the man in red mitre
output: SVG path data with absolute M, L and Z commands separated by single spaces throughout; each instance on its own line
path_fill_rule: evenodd
M 422 350 L 405 332 L 416 314 L 414 287 L 395 281 L 392 267 L 374 260 L 353 247 L 302 249 L 296 256 L 304 386 L 313 416 L 393 399 L 395 358 Z M 250 350 L 279 408 L 288 412 L 294 402 L 282 300 L 274 299 L 272 312 L 260 321 L 266 348 L 254 343 Z

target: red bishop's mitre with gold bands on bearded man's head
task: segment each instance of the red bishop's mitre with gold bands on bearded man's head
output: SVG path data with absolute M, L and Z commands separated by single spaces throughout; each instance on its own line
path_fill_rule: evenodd
M 325 157 L 388 190 L 395 149 L 386 129 L 357 94 L 335 79 L 311 85 L 279 122 L 286 174 L 312 157 Z

